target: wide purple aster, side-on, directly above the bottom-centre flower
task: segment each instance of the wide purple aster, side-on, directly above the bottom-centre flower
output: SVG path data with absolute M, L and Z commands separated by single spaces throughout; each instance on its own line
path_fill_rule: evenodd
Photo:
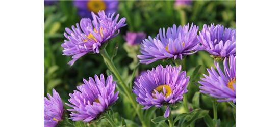
M 143 40 L 140 52 L 138 55 L 141 63 L 149 64 L 160 59 L 180 58 L 183 55 L 189 55 L 197 52 L 200 49 L 199 41 L 196 38 L 198 26 L 189 24 L 187 26 L 173 25 L 169 27 L 165 33 L 165 29 L 160 29 L 160 33 L 155 39 L 150 36 L 149 39 Z

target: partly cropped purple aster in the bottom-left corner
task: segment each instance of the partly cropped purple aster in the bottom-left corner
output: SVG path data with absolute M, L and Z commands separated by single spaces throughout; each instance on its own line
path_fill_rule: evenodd
M 63 120 L 63 104 L 57 91 L 53 89 L 53 97 L 47 93 L 44 97 L 44 126 L 54 127 Z

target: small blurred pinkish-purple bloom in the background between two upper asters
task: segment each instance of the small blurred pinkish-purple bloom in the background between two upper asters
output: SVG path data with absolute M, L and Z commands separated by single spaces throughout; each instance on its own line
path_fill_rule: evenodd
M 123 39 L 129 43 L 129 45 L 134 46 L 136 44 L 141 44 L 142 40 L 146 38 L 146 33 L 144 32 L 126 32 L 126 36 Z

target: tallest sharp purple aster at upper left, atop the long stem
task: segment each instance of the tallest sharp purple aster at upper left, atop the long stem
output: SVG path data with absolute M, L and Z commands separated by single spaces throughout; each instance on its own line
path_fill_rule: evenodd
M 69 65 L 72 66 L 76 60 L 89 52 L 99 53 L 100 46 L 116 37 L 119 28 L 126 25 L 125 18 L 117 22 L 119 14 L 113 18 L 114 13 L 107 16 L 104 11 L 100 11 L 98 15 L 92 12 L 93 21 L 89 18 L 82 19 L 80 25 L 76 24 L 77 28 L 75 26 L 72 26 L 72 30 L 65 28 L 64 36 L 68 40 L 64 40 L 61 46 L 64 48 L 63 55 L 73 55 L 73 59 L 68 62 Z

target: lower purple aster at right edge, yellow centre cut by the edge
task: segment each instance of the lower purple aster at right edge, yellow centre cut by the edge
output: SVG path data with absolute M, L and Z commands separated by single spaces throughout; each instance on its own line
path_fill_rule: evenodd
M 218 98 L 218 102 L 233 101 L 237 102 L 237 78 L 235 75 L 234 56 L 229 58 L 230 68 L 227 65 L 227 58 L 224 59 L 224 73 L 219 67 L 219 63 L 214 61 L 218 73 L 213 67 L 207 69 L 209 76 L 204 75 L 205 78 L 201 78 L 203 81 L 199 81 L 202 86 L 200 92 L 210 94 L 214 98 Z

